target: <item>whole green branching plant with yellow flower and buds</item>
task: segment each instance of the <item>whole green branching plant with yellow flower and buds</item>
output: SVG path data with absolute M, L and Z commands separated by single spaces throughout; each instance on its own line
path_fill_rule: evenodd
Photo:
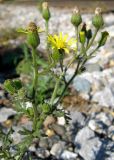
M 92 18 L 93 31 L 88 29 L 85 23 L 82 23 L 82 16 L 76 7 L 71 16 L 71 23 L 75 29 L 75 38 L 69 38 L 69 35 L 49 34 L 49 20 L 51 18 L 50 10 L 47 2 L 42 4 L 42 17 L 45 21 L 45 35 L 46 35 L 46 50 L 48 54 L 48 67 L 45 69 L 39 69 L 37 64 L 37 48 L 40 45 L 40 32 L 42 30 L 37 27 L 34 22 L 30 22 L 26 29 L 19 29 L 19 32 L 26 34 L 26 43 L 30 48 L 32 54 L 33 64 L 33 82 L 31 94 L 28 94 L 28 90 L 22 84 L 20 80 L 6 80 L 4 88 L 9 92 L 12 97 L 12 102 L 17 109 L 17 113 L 21 113 L 29 117 L 32 121 L 32 130 L 28 130 L 23 127 L 23 130 L 19 131 L 24 135 L 22 142 L 17 145 L 13 145 L 13 141 L 10 138 L 10 134 L 13 132 L 10 130 L 6 135 L 2 135 L 4 141 L 0 151 L 0 157 L 6 159 L 22 160 L 29 146 L 36 138 L 44 136 L 42 134 L 43 122 L 47 116 L 53 115 L 54 117 L 64 116 L 68 120 L 69 116 L 63 109 L 59 109 L 57 106 L 61 103 L 66 90 L 73 81 L 73 79 L 85 71 L 85 63 L 96 55 L 98 49 L 105 45 L 108 32 L 100 30 L 104 26 L 104 20 L 101 14 L 101 9 L 95 10 L 95 15 Z M 99 39 L 94 43 L 97 34 L 99 33 Z M 65 57 L 70 56 L 70 60 L 64 63 Z M 72 77 L 69 80 L 66 79 L 66 74 L 71 65 L 75 63 L 76 67 Z M 55 69 L 60 67 L 60 70 L 55 72 Z M 56 83 L 52 96 L 48 100 L 44 100 L 42 104 L 38 104 L 38 79 L 41 75 L 53 75 Z M 57 97 L 60 84 L 64 83 L 64 87 L 60 96 Z M 27 103 L 31 104 L 31 107 L 26 107 Z M 11 132 L 11 133 L 10 133 Z M 15 147 L 15 152 L 11 153 L 11 147 Z M 29 159 L 31 159 L 29 157 Z

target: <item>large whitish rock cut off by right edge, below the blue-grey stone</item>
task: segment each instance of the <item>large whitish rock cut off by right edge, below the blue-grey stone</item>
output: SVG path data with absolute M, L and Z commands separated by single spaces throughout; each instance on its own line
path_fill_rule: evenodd
M 93 95 L 93 102 L 98 102 L 104 107 L 114 108 L 114 95 L 109 87 L 105 87 L 102 91 L 98 91 Z

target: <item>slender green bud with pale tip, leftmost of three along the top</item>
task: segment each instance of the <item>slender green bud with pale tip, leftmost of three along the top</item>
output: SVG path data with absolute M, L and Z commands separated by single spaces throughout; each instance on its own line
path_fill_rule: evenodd
M 42 16 L 46 21 L 49 21 L 51 17 L 47 2 L 42 3 Z

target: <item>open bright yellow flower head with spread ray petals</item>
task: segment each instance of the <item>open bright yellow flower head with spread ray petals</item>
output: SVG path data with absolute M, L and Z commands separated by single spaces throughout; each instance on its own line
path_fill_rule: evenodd
M 69 53 L 70 49 L 76 50 L 76 40 L 71 38 L 68 40 L 68 34 L 64 35 L 60 32 L 59 35 L 49 35 L 48 36 L 48 41 L 52 46 L 52 49 L 62 49 L 66 53 Z

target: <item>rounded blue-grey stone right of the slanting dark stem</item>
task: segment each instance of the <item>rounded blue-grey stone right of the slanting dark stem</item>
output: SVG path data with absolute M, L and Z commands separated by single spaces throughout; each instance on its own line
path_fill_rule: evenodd
M 73 86 L 78 92 L 89 93 L 91 90 L 91 83 L 88 80 L 81 77 L 76 77 L 73 80 Z

